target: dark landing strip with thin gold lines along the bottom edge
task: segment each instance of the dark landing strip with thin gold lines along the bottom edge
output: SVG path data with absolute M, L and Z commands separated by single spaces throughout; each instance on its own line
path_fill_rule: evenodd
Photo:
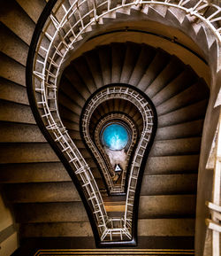
M 94 237 L 23 237 L 22 243 L 25 245 L 20 248 L 19 252 L 21 255 L 27 255 L 27 252 L 33 252 L 31 250 L 35 247 L 35 244 L 39 244 L 39 248 L 57 248 L 57 244 L 63 244 L 62 248 L 69 248 L 67 250 L 57 250 L 58 252 L 69 252 L 72 255 L 87 255 L 88 252 L 94 254 L 88 255 L 119 255 L 123 252 L 123 255 L 145 255 L 148 252 L 149 256 L 156 256 L 163 254 L 164 256 L 180 256 L 180 255 L 192 255 L 194 256 L 194 237 L 138 237 L 139 244 L 136 249 L 96 249 L 95 248 L 95 238 Z M 27 245 L 28 244 L 28 245 Z M 44 245 L 46 244 L 46 245 Z M 185 244 L 185 249 L 184 249 Z M 47 246 L 48 245 L 48 246 Z M 162 249 L 164 248 L 164 249 Z M 173 249 L 171 249 L 173 248 Z M 28 250 L 29 249 L 29 250 Z M 165 252 L 166 250 L 166 252 Z M 39 250 L 38 252 L 44 253 L 44 250 Z M 55 250 L 48 250 L 48 253 L 54 253 Z M 130 254 L 128 254 L 130 253 Z M 141 254 L 144 253 L 144 254 Z M 152 254 L 151 254 L 152 253 Z M 172 253 L 172 254 L 171 254 Z M 184 254 L 181 254 L 184 253 Z M 188 253 L 188 254 L 187 254 Z M 28 254 L 29 255 L 29 254 Z M 31 254 L 30 254 L 31 255 Z

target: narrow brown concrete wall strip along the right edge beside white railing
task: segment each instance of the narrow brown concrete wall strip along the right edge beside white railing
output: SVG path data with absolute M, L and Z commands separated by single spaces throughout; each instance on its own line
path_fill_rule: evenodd
M 208 105 L 206 118 L 204 121 L 201 158 L 199 164 L 196 225 L 195 225 L 195 255 L 202 256 L 206 236 L 205 219 L 210 218 L 209 210 L 205 206 L 206 201 L 211 201 L 213 170 L 206 169 L 210 155 L 210 148 L 217 129 L 217 121 L 220 113 L 220 105 L 215 107 L 217 95 L 220 90 L 221 71 L 214 75 L 214 80 L 210 86 L 210 102 Z M 209 255 L 208 255 L 209 256 Z

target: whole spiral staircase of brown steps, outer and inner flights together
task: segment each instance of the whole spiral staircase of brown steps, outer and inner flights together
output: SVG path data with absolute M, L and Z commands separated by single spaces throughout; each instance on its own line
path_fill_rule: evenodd
M 0 182 L 19 227 L 21 247 L 16 255 L 34 255 L 36 248 L 95 248 L 93 231 L 79 193 L 42 135 L 27 98 L 27 54 L 37 20 L 47 2 L 11 0 L 4 2 L 0 11 Z M 116 6 L 118 2 L 121 1 L 116 1 Z M 93 2 L 88 1 L 87 8 L 91 4 Z M 71 5 L 71 0 L 65 1 L 66 9 Z M 83 5 L 80 8 L 83 16 L 87 8 Z M 104 7 L 97 9 L 97 15 L 103 10 Z M 148 12 L 150 20 L 165 21 L 165 24 L 170 17 L 201 46 L 207 45 L 204 50 L 210 58 L 216 55 L 218 43 L 208 30 L 199 22 L 190 27 L 193 20 L 173 7 L 144 5 L 141 8 L 138 4 L 119 9 L 89 26 L 73 44 L 76 49 L 83 49 L 86 40 L 92 42 L 88 49 L 79 50 L 75 56 L 73 53 L 72 61 L 64 66 L 57 92 L 58 109 L 72 142 L 95 176 L 107 213 L 122 216 L 126 196 L 109 195 L 97 161 L 80 134 L 80 115 L 88 98 L 109 84 L 128 84 L 152 100 L 158 124 L 141 182 L 137 248 L 164 248 L 174 250 L 170 251 L 173 254 L 193 255 L 197 173 L 210 97 L 207 74 L 203 76 L 201 71 L 197 74 L 195 64 L 193 68 L 175 54 L 150 46 L 148 42 L 128 40 L 93 45 L 94 36 L 99 41 L 96 33 L 103 27 L 105 30 L 110 24 L 115 26 L 119 20 L 146 19 Z M 62 13 L 57 17 L 59 15 Z M 72 19 L 76 22 L 78 17 Z M 201 51 L 197 53 L 197 58 L 202 56 Z M 211 63 L 210 58 L 205 62 Z M 139 127 L 141 117 L 122 100 L 103 104 L 95 113 L 95 121 L 108 112 L 126 112 Z

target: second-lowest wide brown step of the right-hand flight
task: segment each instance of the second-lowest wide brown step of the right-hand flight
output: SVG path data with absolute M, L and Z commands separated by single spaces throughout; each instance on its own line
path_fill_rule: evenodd
M 141 196 L 139 219 L 193 217 L 195 195 Z

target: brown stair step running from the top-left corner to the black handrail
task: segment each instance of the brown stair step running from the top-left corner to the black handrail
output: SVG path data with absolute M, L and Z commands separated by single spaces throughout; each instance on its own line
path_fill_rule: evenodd
M 28 17 L 27 13 L 15 0 L 4 2 L 1 10 L 1 21 L 25 43 L 28 45 L 31 43 L 35 26 L 34 21 Z

